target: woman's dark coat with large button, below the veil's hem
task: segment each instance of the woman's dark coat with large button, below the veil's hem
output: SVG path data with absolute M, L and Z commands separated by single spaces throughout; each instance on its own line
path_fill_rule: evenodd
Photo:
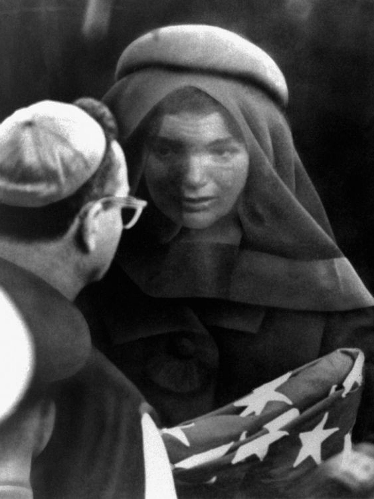
M 79 304 L 99 348 L 173 425 L 340 347 L 366 355 L 366 393 L 355 435 L 374 421 L 374 308 L 290 310 L 143 293 L 114 263 Z

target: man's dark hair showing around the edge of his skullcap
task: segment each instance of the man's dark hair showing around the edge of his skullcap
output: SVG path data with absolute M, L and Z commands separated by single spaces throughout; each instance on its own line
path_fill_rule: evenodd
M 74 104 L 102 127 L 106 138 L 104 157 L 96 172 L 71 196 L 38 208 L 0 204 L 0 234 L 25 241 L 53 240 L 63 236 L 82 206 L 105 196 L 110 179 L 115 178 L 116 162 L 111 142 L 117 138 L 116 121 L 107 106 L 91 98 Z

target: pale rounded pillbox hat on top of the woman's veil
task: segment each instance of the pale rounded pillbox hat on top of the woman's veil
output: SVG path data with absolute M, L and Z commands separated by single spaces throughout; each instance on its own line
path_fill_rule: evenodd
M 234 76 L 257 83 L 283 105 L 288 89 L 282 71 L 264 50 L 237 33 L 205 24 L 154 29 L 122 53 L 116 80 L 147 67 L 162 66 Z

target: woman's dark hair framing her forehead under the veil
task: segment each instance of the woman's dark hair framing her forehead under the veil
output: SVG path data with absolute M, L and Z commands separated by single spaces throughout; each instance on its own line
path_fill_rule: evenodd
M 150 137 L 155 136 L 161 128 L 162 119 L 167 114 L 191 112 L 207 115 L 218 112 L 227 126 L 230 134 L 239 142 L 244 143 L 242 132 L 225 107 L 197 87 L 186 86 L 174 90 L 162 99 L 142 120 L 124 144 L 126 161 L 129 165 L 129 183 L 132 193 L 139 184 L 142 176 L 141 161 L 145 145 Z

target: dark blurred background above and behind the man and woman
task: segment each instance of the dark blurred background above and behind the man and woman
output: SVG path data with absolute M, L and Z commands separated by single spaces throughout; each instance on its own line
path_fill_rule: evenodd
M 178 23 L 231 29 L 276 60 L 297 149 L 374 291 L 374 0 L 0 0 L 0 120 L 45 98 L 100 98 L 128 43 Z

